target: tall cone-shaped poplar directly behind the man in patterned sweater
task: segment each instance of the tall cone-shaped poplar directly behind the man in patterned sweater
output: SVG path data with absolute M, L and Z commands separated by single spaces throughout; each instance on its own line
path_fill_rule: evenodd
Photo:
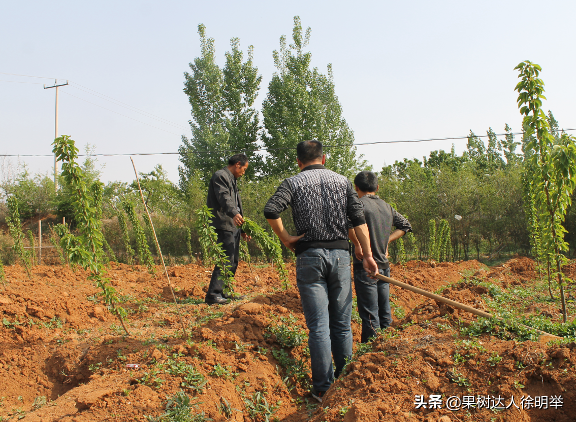
M 310 41 L 310 28 L 304 33 L 300 17 L 294 17 L 293 44 L 280 37 L 280 49 L 274 51 L 278 69 L 268 85 L 262 106 L 262 140 L 268 148 L 264 174 L 284 177 L 298 171 L 296 144 L 317 139 L 324 145 L 352 145 L 354 133 L 342 117 L 342 106 L 335 93 L 334 74 L 310 68 L 312 54 L 304 48 Z M 326 165 L 348 178 L 365 170 L 366 161 L 357 156 L 353 146 L 325 148 Z

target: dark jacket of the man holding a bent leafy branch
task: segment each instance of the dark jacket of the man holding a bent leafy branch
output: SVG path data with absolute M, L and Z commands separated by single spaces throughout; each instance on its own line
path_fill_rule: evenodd
M 213 210 L 214 228 L 237 231 L 238 227 L 234 224 L 233 218 L 236 214 L 244 216 L 244 213 L 236 178 L 228 168 L 218 170 L 210 179 L 206 205 Z

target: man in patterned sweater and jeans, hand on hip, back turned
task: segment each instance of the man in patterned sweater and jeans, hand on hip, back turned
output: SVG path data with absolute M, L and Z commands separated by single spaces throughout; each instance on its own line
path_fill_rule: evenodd
M 309 329 L 312 396 L 322 402 L 334 377 L 338 378 L 352 356 L 347 219 L 362 245 L 366 273 L 376 273 L 378 266 L 352 184 L 324 167 L 326 156 L 319 141 L 302 141 L 296 152 L 301 172 L 282 182 L 264 207 L 264 216 L 282 243 L 296 254 L 296 283 Z M 289 235 L 280 218 L 289 205 L 297 236 Z

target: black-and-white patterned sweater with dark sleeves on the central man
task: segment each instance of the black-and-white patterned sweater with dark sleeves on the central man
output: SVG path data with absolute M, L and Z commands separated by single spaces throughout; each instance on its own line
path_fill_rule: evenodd
M 264 207 L 264 217 L 276 220 L 292 208 L 297 236 L 296 255 L 308 248 L 348 249 L 348 224 L 365 224 L 362 204 L 352 183 L 322 164 L 305 167 L 285 179 Z

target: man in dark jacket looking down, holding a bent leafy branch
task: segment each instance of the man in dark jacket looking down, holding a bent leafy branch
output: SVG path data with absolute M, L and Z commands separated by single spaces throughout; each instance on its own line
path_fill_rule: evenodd
M 238 254 L 240 248 L 240 235 L 249 240 L 240 226 L 244 224 L 242 215 L 242 200 L 236 181 L 244 175 L 248 168 L 248 157 L 245 154 L 236 154 L 228 159 L 228 166 L 218 170 L 210 179 L 208 186 L 208 199 L 206 205 L 214 214 L 212 225 L 218 235 L 218 243 L 222 243 L 230 261 L 230 270 L 236 274 L 238 267 Z M 220 267 L 215 266 L 210 279 L 210 286 L 206 293 L 207 304 L 225 304 L 228 296 L 222 293 L 223 279 L 220 277 Z M 232 298 L 234 299 L 234 298 Z

